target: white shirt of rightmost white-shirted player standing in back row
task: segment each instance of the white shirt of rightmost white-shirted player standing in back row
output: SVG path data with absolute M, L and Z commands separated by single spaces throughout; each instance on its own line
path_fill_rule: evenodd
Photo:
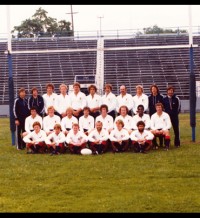
M 142 104 L 144 106 L 144 112 L 148 110 L 149 107 L 149 98 L 148 95 L 142 93 L 141 96 L 133 96 L 133 113 L 137 114 L 138 105 Z

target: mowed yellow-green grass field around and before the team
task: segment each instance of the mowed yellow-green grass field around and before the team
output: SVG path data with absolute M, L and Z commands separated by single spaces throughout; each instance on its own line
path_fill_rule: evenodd
M 192 142 L 180 114 L 181 147 L 148 154 L 28 155 L 0 119 L 1 212 L 200 212 L 200 114 Z

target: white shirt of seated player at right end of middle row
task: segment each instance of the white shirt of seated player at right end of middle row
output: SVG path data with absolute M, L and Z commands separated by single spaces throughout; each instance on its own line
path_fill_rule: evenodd
M 162 129 L 162 130 L 168 130 L 172 126 L 170 116 L 166 112 L 162 112 L 162 114 L 159 116 L 156 113 L 154 113 L 151 116 L 151 129 Z

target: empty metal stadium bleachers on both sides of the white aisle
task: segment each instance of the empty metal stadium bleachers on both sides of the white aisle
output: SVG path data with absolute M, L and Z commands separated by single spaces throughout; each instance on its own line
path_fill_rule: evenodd
M 137 36 L 124 39 L 104 39 L 104 47 L 130 46 L 163 46 L 188 45 L 187 35 Z M 193 43 L 200 46 L 200 36 L 193 37 Z M 43 94 L 45 85 L 52 82 L 55 91 L 59 85 L 73 84 L 76 75 L 96 74 L 97 39 L 71 40 L 66 37 L 13 39 L 12 50 L 42 50 L 42 49 L 85 49 L 76 52 L 27 53 L 12 55 L 12 70 L 15 97 L 20 87 L 30 93 L 33 86 Z M 0 105 L 9 104 L 8 91 L 8 58 L 4 54 L 7 43 L 0 42 Z M 189 99 L 189 49 L 162 48 L 143 50 L 109 50 L 104 51 L 104 83 L 113 85 L 113 92 L 119 94 L 122 84 L 128 92 L 135 94 L 135 86 L 143 85 L 144 92 L 149 94 L 152 84 L 157 84 L 161 93 L 166 93 L 166 87 L 173 85 L 181 100 Z M 200 48 L 194 48 L 194 73 L 200 80 Z

